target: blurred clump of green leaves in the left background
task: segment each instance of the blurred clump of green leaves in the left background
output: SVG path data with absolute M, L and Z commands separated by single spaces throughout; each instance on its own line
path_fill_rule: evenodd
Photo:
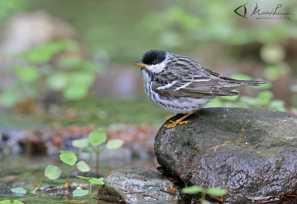
M 76 41 L 55 40 L 16 56 L 23 64 L 10 67 L 18 80 L 0 94 L 1 106 L 38 100 L 45 90 L 62 93 L 70 101 L 85 98 L 102 68 L 88 59 L 67 54 L 78 49 Z

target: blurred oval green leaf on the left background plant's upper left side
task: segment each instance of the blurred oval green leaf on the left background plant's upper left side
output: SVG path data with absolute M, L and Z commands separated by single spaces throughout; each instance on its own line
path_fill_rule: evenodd
M 38 78 L 39 73 L 35 67 L 15 67 L 13 72 L 21 81 L 34 81 Z

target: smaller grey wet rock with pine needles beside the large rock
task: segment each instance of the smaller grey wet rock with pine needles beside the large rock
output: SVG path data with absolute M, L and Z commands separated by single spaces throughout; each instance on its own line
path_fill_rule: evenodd
M 169 178 L 142 167 L 125 167 L 114 170 L 104 178 L 104 183 L 103 186 L 99 186 L 98 197 L 116 202 L 122 200 L 122 202 L 128 203 L 164 203 L 165 200 L 177 199 L 177 195 L 160 191 L 160 189 L 167 190 L 172 186 L 176 190 L 180 190 Z M 143 192 L 125 193 L 122 189 Z M 158 200 L 142 194 L 153 195 Z M 178 203 L 178 201 L 170 203 Z

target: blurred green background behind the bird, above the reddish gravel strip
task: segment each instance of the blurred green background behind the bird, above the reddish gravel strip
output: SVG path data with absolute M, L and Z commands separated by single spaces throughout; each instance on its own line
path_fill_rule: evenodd
M 255 19 L 246 1 L 0 0 L 0 126 L 162 124 L 137 62 L 150 49 L 187 55 L 235 79 L 268 80 L 206 107 L 297 115 L 297 17 Z M 296 1 L 257 1 L 267 11 Z M 243 12 L 238 10 L 238 12 Z

